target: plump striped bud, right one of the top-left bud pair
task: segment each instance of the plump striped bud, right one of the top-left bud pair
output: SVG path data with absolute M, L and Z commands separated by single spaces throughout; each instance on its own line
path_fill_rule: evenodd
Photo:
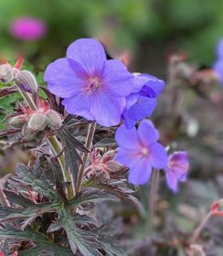
M 38 85 L 35 76 L 27 71 L 22 70 L 16 73 L 16 85 L 23 91 L 37 92 Z

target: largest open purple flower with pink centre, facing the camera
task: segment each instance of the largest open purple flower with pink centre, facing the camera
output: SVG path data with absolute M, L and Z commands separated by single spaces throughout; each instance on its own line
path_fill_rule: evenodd
M 107 60 L 95 39 L 79 39 L 67 50 L 67 58 L 48 65 L 48 90 L 64 98 L 67 112 L 103 126 L 120 123 L 125 97 L 140 91 L 144 81 L 134 81 L 122 61 Z

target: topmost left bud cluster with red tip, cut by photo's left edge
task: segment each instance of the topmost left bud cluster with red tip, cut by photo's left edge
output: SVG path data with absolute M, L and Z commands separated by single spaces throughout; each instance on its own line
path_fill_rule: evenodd
M 20 90 L 35 93 L 38 90 L 37 80 L 30 71 L 20 70 L 22 64 L 23 59 L 17 59 L 14 67 L 8 62 L 1 64 L 0 81 L 3 83 L 15 81 Z

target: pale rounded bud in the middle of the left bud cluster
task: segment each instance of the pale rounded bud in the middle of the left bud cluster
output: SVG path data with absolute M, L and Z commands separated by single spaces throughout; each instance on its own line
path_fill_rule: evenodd
M 27 123 L 27 129 L 33 132 L 42 131 L 47 125 L 47 119 L 45 114 L 36 112 L 32 114 Z

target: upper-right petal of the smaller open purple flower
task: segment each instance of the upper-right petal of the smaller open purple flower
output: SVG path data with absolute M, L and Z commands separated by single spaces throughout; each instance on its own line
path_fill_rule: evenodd
M 159 133 L 154 128 L 154 123 L 150 120 L 143 120 L 138 127 L 139 137 L 143 144 L 149 146 L 156 142 L 159 138 Z

